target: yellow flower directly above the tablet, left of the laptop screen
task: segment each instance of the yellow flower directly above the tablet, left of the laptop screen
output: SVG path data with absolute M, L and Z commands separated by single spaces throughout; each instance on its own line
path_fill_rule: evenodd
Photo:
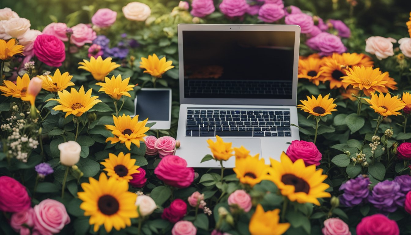
M 174 66 L 173 61 L 166 62 L 166 57 L 159 59 L 156 54 L 149 55 L 148 58 L 141 57 L 140 68 L 145 69 L 144 73 L 148 73 L 153 77 L 161 77 L 167 70 Z

